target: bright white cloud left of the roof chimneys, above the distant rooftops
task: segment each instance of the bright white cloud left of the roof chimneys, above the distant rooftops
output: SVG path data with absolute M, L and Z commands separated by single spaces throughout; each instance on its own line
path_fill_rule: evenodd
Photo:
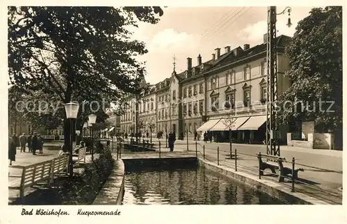
M 153 38 L 149 41 L 148 48 L 150 51 L 187 51 L 196 48 L 197 42 L 196 35 L 187 32 L 177 32 L 169 28 L 153 35 Z

